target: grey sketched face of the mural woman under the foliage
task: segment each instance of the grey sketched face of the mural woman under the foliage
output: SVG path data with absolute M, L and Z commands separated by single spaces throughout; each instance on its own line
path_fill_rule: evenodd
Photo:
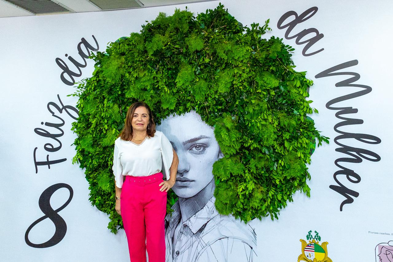
M 179 197 L 195 196 L 213 179 L 213 163 L 220 158 L 213 127 L 191 111 L 163 119 L 157 130 L 171 141 L 179 157 L 173 191 Z

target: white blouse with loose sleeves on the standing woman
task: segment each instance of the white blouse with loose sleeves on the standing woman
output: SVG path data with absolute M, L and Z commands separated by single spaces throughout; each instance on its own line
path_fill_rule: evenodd
M 161 131 L 156 130 L 154 137 L 145 138 L 139 145 L 118 137 L 115 140 L 112 166 L 116 186 L 123 186 L 125 175 L 148 176 L 161 170 L 169 179 L 172 161 L 172 144 Z

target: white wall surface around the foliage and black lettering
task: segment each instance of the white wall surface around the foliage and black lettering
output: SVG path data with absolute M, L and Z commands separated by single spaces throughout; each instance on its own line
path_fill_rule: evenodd
M 317 6 L 318 11 L 298 24 L 290 35 L 307 28 L 316 28 L 324 37 L 316 42 L 309 52 L 324 48 L 322 52 L 311 56 L 301 53 L 305 44 L 297 45 L 296 39 L 285 39 L 292 45 L 294 63 L 298 71 L 308 71 L 307 76 L 314 80 L 310 90 L 313 107 L 319 110 L 312 115 L 318 130 L 331 138 L 330 145 L 316 149 L 312 155 L 309 182 L 311 197 L 296 194 L 294 203 L 289 203 L 282 210 L 279 220 L 250 222 L 257 233 L 257 261 L 296 261 L 301 254 L 299 239 L 305 239 L 309 230 L 316 230 L 321 242 L 329 242 L 329 257 L 333 261 L 374 261 L 375 247 L 379 243 L 393 240 L 391 226 L 392 209 L 392 161 L 389 161 L 392 142 L 389 139 L 392 115 L 392 84 L 390 44 L 393 42 L 391 13 L 393 2 L 371 1 L 235 1 L 221 0 L 228 11 L 243 25 L 263 22 L 270 18 L 272 32 L 284 38 L 286 29 L 279 30 L 277 21 L 287 11 L 300 15 L 310 7 Z M 241 4 L 239 4 L 241 3 Z M 219 1 L 187 4 L 195 14 L 213 9 Z M 88 201 L 88 183 L 84 170 L 73 165 L 75 148 L 70 146 L 75 135 L 70 131 L 73 119 L 64 111 L 56 113 L 64 119 L 61 127 L 64 135 L 58 139 L 62 143 L 60 150 L 47 152 L 46 143 L 57 146 L 53 139 L 37 135 L 34 129 L 42 127 L 51 133 L 59 133 L 52 127 L 44 127 L 41 122 L 60 123 L 47 109 L 49 102 L 59 105 L 57 95 L 64 105 L 76 105 L 74 97 L 67 97 L 75 91 L 73 86 L 65 85 L 60 79 L 61 69 L 55 58 L 64 61 L 64 54 L 81 61 L 77 54 L 77 44 L 85 38 L 94 45 L 92 35 L 99 43 L 99 51 L 104 51 L 108 42 L 139 31 L 145 20 L 154 19 L 160 11 L 171 15 L 175 7 L 184 9 L 185 5 L 151 7 L 106 12 L 74 13 L 66 15 L 48 15 L 31 17 L 11 17 L 0 19 L 0 76 L 2 79 L 0 97 L 0 146 L 1 151 L 1 202 L 2 223 L 0 260 L 3 261 L 127 261 L 129 259 L 127 241 L 123 231 L 117 235 L 107 229 L 106 214 L 92 207 Z M 289 18 L 288 18 L 289 21 Z M 303 40 L 312 36 L 306 36 Z M 381 158 L 372 162 L 363 159 L 361 163 L 341 163 L 354 170 L 361 177 L 359 183 L 349 182 L 344 175 L 338 179 L 359 193 L 351 204 L 340 203 L 343 196 L 329 188 L 336 185 L 334 172 L 339 168 L 334 161 L 347 155 L 335 151 L 339 148 L 334 138 L 339 134 L 333 129 L 341 120 L 334 115 L 337 111 L 329 110 L 325 104 L 339 96 L 350 94 L 359 87 L 335 87 L 346 76 L 316 78 L 316 74 L 338 64 L 358 60 L 358 65 L 342 72 L 357 72 L 360 79 L 356 84 L 370 86 L 369 94 L 346 100 L 334 106 L 353 107 L 356 114 L 343 115 L 364 120 L 362 125 L 340 127 L 349 133 L 374 135 L 382 140 L 380 144 L 367 144 L 353 138 L 340 140 L 342 144 L 354 148 L 368 149 Z M 71 68 L 71 63 L 67 63 Z M 79 81 L 92 73 L 94 61 L 82 68 Z M 52 108 L 53 109 L 53 108 Z M 35 172 L 33 161 L 34 148 L 37 159 L 44 161 L 46 155 L 51 160 L 64 159 L 65 162 L 39 166 Z M 73 189 L 73 198 L 59 215 L 65 220 L 67 231 L 59 244 L 47 248 L 30 247 L 25 242 L 25 233 L 29 225 L 43 216 L 39 208 L 39 197 L 51 185 L 66 183 Z M 69 197 L 69 191 L 62 188 L 50 199 L 51 207 L 59 208 Z M 389 235 L 373 234 L 389 233 Z M 33 243 L 47 241 L 55 232 L 50 219 L 38 223 L 29 233 Z M 379 260 L 376 260 L 379 261 Z

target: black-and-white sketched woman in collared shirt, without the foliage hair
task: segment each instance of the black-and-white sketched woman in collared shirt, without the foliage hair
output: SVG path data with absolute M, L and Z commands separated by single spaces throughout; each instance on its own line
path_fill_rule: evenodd
M 257 241 L 253 228 L 215 208 L 213 163 L 223 154 L 214 128 L 191 111 L 163 119 L 157 129 L 180 159 L 172 188 L 178 201 L 172 215 L 165 217 L 165 261 L 253 261 Z

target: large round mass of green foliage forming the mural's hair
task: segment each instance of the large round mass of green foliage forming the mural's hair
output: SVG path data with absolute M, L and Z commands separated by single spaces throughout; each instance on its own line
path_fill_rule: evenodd
M 310 152 L 327 138 L 306 114 L 312 81 L 296 72 L 291 46 L 263 39 L 263 26 L 242 26 L 224 6 L 200 13 L 175 10 L 92 55 L 92 77 L 79 84 L 73 162 L 86 168 L 90 201 L 122 227 L 116 213 L 114 140 L 131 103 L 151 106 L 156 122 L 195 110 L 215 127 L 224 158 L 213 165 L 216 208 L 243 221 L 277 218 L 292 195 L 310 196 Z M 168 195 L 167 209 L 176 196 Z

